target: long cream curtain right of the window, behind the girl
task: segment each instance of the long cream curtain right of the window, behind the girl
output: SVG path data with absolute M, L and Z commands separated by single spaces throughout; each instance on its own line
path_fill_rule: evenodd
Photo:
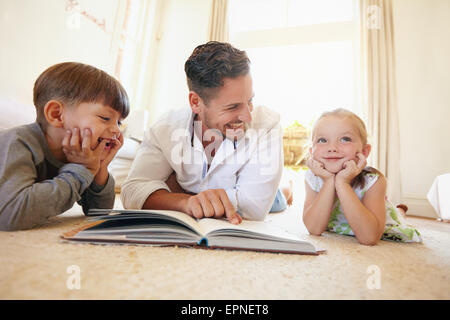
M 385 174 L 388 197 L 401 200 L 400 137 L 394 72 L 392 0 L 360 0 L 361 76 L 369 164 Z

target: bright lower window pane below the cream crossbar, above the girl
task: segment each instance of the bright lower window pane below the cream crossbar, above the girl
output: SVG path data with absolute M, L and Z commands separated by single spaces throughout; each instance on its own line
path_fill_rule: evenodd
M 281 114 L 282 126 L 309 124 L 328 108 L 353 108 L 351 42 L 247 49 L 255 103 Z

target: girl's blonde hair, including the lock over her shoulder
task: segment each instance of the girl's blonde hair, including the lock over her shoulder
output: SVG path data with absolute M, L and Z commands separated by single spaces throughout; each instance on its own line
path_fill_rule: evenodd
M 311 146 L 313 145 L 313 141 L 315 139 L 316 135 L 316 127 L 320 120 L 326 117 L 339 117 L 341 119 L 351 119 L 353 122 L 353 125 L 356 128 L 356 131 L 358 132 L 358 135 L 361 139 L 363 147 L 367 144 L 368 141 L 368 134 L 366 125 L 364 124 L 364 121 L 361 120 L 360 117 L 358 117 L 355 113 L 351 112 L 350 110 L 344 109 L 344 108 L 338 108 L 334 109 L 332 111 L 324 112 L 320 115 L 320 117 L 314 122 L 312 131 L 311 131 Z M 364 168 L 359 175 L 357 175 L 351 185 L 352 187 L 360 187 L 361 189 L 364 188 L 364 176 L 368 173 L 374 173 L 378 175 L 383 175 L 380 171 L 378 171 L 375 168 L 372 167 L 366 167 Z

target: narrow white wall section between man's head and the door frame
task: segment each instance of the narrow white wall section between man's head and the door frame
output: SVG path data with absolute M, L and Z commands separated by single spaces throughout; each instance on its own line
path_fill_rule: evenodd
M 189 107 L 184 63 L 208 40 L 210 11 L 210 0 L 164 0 L 148 107 L 151 122 L 166 110 Z

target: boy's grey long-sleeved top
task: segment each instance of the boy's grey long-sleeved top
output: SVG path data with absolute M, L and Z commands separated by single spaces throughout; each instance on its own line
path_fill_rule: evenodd
M 38 123 L 0 132 L 0 146 L 0 230 L 41 225 L 76 201 L 85 214 L 114 206 L 113 177 L 99 186 L 84 166 L 56 159 Z

